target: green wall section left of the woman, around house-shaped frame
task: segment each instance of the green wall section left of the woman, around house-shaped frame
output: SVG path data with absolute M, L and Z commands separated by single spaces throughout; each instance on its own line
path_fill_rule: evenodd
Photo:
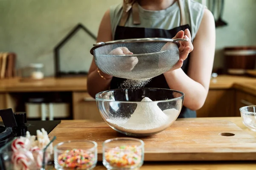
M 97 35 L 99 23 L 112 4 L 122 0 L 0 0 L 0 51 L 17 53 L 17 67 L 45 64 L 54 74 L 55 45 L 78 23 Z M 95 41 L 79 31 L 61 48 L 61 70 L 88 70 Z M 72 61 L 72 62 L 71 62 Z

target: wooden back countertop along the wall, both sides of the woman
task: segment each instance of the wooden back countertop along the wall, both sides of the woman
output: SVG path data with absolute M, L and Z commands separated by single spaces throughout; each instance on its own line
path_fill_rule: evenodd
M 211 79 L 210 89 L 238 88 L 256 95 L 256 78 L 219 75 Z M 21 81 L 19 78 L 0 80 L 0 92 L 87 91 L 87 77 L 54 78 Z

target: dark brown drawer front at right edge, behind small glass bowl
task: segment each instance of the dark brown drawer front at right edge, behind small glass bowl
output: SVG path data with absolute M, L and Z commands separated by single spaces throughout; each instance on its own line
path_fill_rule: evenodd
M 241 116 L 239 108 L 249 105 L 256 105 L 256 96 L 236 91 L 236 116 Z

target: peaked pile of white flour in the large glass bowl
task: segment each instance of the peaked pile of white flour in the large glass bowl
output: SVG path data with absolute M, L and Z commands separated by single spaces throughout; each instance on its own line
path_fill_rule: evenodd
M 128 133 L 154 133 L 169 127 L 178 117 L 179 111 L 168 109 L 162 111 L 157 102 L 145 97 L 129 119 L 113 118 L 107 122 L 117 130 Z

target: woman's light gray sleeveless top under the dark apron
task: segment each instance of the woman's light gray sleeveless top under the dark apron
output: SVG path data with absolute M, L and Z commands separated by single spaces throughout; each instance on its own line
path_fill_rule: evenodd
M 181 0 L 181 2 L 183 3 L 185 11 L 186 24 L 189 24 L 191 28 L 190 31 L 193 41 L 200 26 L 206 6 L 203 6 L 201 3 L 195 2 L 194 0 Z M 160 11 L 148 11 L 139 5 L 139 14 L 140 24 L 134 25 L 132 16 L 130 15 L 125 23 L 125 27 L 159 28 L 170 30 L 180 26 L 180 8 L 178 1 L 175 1 L 172 6 Z M 122 3 L 110 7 L 111 30 L 113 37 L 121 16 Z

